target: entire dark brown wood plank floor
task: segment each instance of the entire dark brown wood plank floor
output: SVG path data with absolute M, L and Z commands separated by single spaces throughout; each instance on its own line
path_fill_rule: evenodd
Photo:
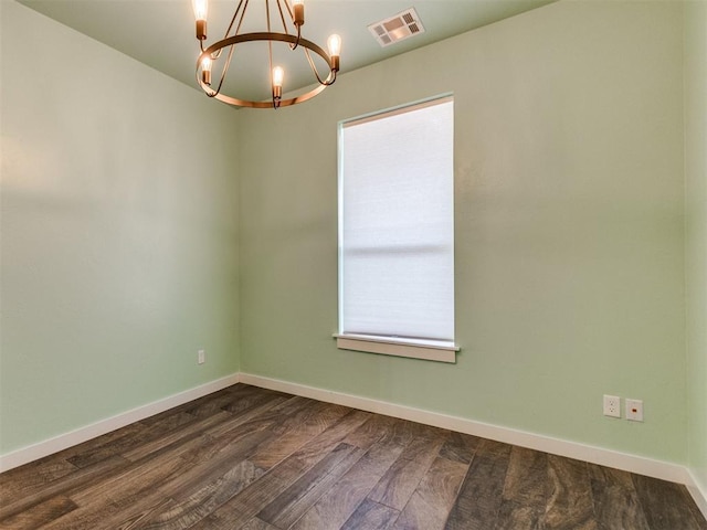
M 707 529 L 684 486 L 236 384 L 0 475 L 2 529 Z

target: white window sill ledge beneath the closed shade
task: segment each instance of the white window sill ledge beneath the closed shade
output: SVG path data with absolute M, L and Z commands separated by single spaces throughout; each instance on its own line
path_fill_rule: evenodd
M 366 351 L 426 361 L 455 363 L 456 352 L 460 351 L 460 348 L 451 342 L 433 340 L 398 340 L 391 337 L 380 338 L 365 335 L 335 335 L 334 337 L 339 350 Z

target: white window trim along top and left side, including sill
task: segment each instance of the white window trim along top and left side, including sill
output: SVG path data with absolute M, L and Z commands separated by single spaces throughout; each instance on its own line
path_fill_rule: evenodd
M 341 220 L 344 210 L 344 168 L 342 168 L 342 135 L 346 127 L 361 125 L 371 120 L 384 119 L 388 117 L 397 116 L 399 114 L 422 109 L 433 105 L 441 105 L 445 103 L 454 102 L 453 93 L 441 94 L 429 98 L 420 99 L 418 102 L 408 103 L 392 107 L 388 110 L 379 110 L 369 113 L 357 118 L 345 119 L 338 123 L 337 126 L 337 183 L 338 183 L 338 322 L 339 332 L 334 333 L 334 338 L 337 341 L 337 348 L 339 350 L 352 350 L 362 351 L 367 353 L 378 353 L 393 357 L 405 357 L 411 359 L 421 359 L 426 361 L 437 361 L 446 363 L 456 363 L 456 352 L 461 351 L 461 348 L 456 346 L 454 341 L 443 340 L 425 340 L 425 339 L 412 339 L 408 337 L 389 337 L 389 336 L 370 336 L 370 335 L 356 335 L 356 333 L 342 333 L 344 321 L 344 300 L 341 296 L 341 282 L 342 282 L 342 259 L 344 247 L 341 245 L 344 235 L 344 223 Z M 454 180 L 454 174 L 452 176 Z M 452 205 L 454 208 L 454 205 Z M 456 311 L 455 311 L 456 312 Z

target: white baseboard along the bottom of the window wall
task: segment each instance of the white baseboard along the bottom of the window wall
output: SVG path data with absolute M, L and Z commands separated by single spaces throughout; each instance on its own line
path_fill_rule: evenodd
M 583 445 L 577 442 L 568 442 L 566 439 L 552 438 L 550 436 L 516 431 L 508 427 L 499 427 L 497 425 L 474 422 L 472 420 L 450 416 L 436 412 L 386 403 L 368 398 L 360 398 L 357 395 L 333 392 L 314 386 L 262 378 L 250 373 L 241 373 L 240 379 L 242 383 L 252 384 L 254 386 L 286 392 L 289 394 L 300 395 L 303 398 L 325 401 L 327 403 L 346 405 L 368 412 L 384 414 L 387 416 L 400 417 L 402 420 L 424 423 L 435 427 L 449 428 L 460 433 L 472 434 L 507 444 L 519 445 L 530 449 L 542 451 L 553 455 L 567 456 L 569 458 L 591 462 L 593 464 L 646 475 L 648 477 L 671 480 L 673 483 L 679 483 L 690 487 L 694 486 L 693 478 L 688 470 L 677 464 L 654 460 L 626 453 Z

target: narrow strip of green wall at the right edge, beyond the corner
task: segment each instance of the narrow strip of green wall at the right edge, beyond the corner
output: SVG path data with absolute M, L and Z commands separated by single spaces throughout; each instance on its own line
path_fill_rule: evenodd
M 689 467 L 707 495 L 707 2 L 685 4 Z

